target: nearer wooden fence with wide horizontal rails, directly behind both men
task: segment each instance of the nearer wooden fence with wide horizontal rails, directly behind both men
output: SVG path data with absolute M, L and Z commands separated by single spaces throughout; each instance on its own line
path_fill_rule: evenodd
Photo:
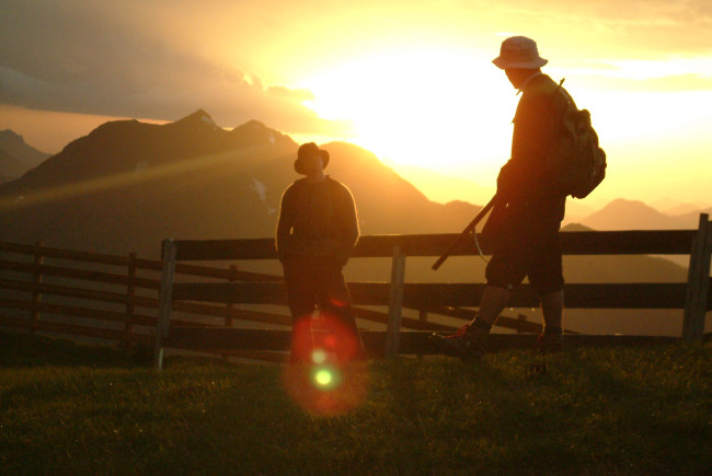
M 624 285 L 566 285 L 566 306 L 586 309 L 684 309 L 682 338 L 700 340 L 704 332 L 704 315 L 712 303 L 710 292 L 710 254 L 712 223 L 707 214 L 700 216 L 698 230 L 674 231 L 618 231 L 618 232 L 562 232 L 563 252 L 566 255 L 690 255 L 687 283 L 624 283 Z M 357 305 L 388 305 L 386 333 L 363 333 L 370 351 L 384 349 L 387 356 L 395 353 L 427 353 L 435 351 L 427 344 L 425 333 L 402 333 L 403 306 L 423 312 L 460 309 L 479 305 L 484 285 L 471 283 L 405 283 L 406 256 L 439 256 L 456 239 L 453 234 L 437 235 L 375 235 L 363 236 L 353 258 L 391 257 L 390 282 L 351 282 L 353 302 Z M 489 252 L 484 244 L 484 253 Z M 184 301 L 220 303 L 278 303 L 286 304 L 283 285 L 276 282 L 200 283 L 176 282 L 175 270 L 183 260 L 275 259 L 272 239 L 192 241 L 165 240 L 162 248 L 163 271 L 161 282 L 161 310 L 156 334 L 156 365 L 161 368 L 163 349 L 181 347 L 194 349 L 241 348 L 285 350 L 289 333 L 259 329 L 190 329 L 171 324 L 173 306 Z M 453 255 L 471 255 L 472 243 L 462 243 Z M 509 303 L 513 307 L 538 305 L 533 289 L 517 289 Z M 494 336 L 493 336 L 494 337 Z M 635 338 L 634 336 L 632 336 Z M 494 338 L 495 346 L 505 340 L 518 341 L 531 336 L 502 336 Z M 581 336 L 579 340 L 590 340 Z M 661 340 L 661 339 L 657 339 Z

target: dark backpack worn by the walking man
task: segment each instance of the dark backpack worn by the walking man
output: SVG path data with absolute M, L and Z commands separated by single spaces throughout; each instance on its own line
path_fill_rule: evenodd
M 565 103 L 556 140 L 548 158 L 548 166 L 558 186 L 574 198 L 588 196 L 606 177 L 606 152 L 598 146 L 598 135 L 590 124 L 590 113 L 578 109 L 571 95 L 561 88 Z

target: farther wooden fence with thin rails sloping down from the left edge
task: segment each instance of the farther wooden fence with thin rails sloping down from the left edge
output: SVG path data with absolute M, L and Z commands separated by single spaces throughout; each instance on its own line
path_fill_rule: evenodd
M 119 343 L 124 347 L 143 344 L 152 348 L 158 324 L 159 289 L 162 263 L 135 254 L 116 256 L 0 242 L 0 327 L 30 332 L 89 337 Z M 236 265 L 223 268 L 177 264 L 179 279 L 219 280 L 275 285 L 282 292 L 283 278 L 241 271 Z M 279 300 L 277 300 L 279 301 Z M 287 314 L 237 309 L 236 303 L 220 305 L 202 302 L 175 302 L 172 324 L 185 328 L 226 328 L 240 323 L 251 325 L 291 325 Z M 456 310 L 444 310 L 455 314 Z M 386 325 L 388 314 L 354 307 L 361 321 Z M 525 332 L 537 324 L 503 317 L 501 326 Z M 449 330 L 452 325 L 403 318 L 403 327 L 418 330 Z M 182 348 L 179 345 L 174 346 Z M 183 346 L 194 348 L 195 346 Z M 282 361 L 271 351 L 206 348 L 206 352 Z

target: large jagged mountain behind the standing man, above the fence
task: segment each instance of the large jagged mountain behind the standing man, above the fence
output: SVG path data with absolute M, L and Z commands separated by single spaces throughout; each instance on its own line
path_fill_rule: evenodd
M 272 236 L 298 144 L 259 121 L 231 131 L 204 111 L 120 120 L 0 186 L 0 240 L 156 256 L 162 239 Z M 429 201 L 372 153 L 333 142 L 326 172 L 356 199 L 364 234 L 455 232 L 478 207 Z

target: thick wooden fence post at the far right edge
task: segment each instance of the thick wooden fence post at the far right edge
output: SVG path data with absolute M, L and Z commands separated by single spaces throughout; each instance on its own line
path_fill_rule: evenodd
M 704 314 L 710 285 L 710 255 L 712 253 L 712 223 L 709 219 L 709 214 L 700 213 L 700 225 L 692 239 L 682 317 L 682 340 L 686 343 L 700 341 L 704 334 Z

